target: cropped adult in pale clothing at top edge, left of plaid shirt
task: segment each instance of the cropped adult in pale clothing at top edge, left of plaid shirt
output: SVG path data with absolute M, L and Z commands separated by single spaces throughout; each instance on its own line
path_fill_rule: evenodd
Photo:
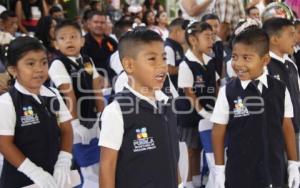
M 199 21 L 204 14 L 214 11 L 215 2 L 216 0 L 179 0 L 182 17 Z

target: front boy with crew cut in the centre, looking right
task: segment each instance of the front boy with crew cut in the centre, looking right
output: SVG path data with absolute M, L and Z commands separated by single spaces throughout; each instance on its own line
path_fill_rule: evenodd
M 160 90 L 167 75 L 163 40 L 138 28 L 121 37 L 119 53 L 131 79 L 101 117 L 100 187 L 177 187 L 176 115 Z

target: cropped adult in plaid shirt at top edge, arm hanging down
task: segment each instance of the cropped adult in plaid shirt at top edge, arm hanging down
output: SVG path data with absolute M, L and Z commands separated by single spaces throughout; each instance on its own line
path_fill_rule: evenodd
M 220 19 L 219 36 L 226 41 L 240 19 L 245 18 L 245 10 L 241 0 L 216 0 L 216 14 Z

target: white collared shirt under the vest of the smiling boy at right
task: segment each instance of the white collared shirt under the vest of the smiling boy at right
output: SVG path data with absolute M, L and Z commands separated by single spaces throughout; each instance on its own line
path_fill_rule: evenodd
M 262 92 L 263 85 L 268 88 L 267 74 L 264 72 L 256 80 L 259 80 L 258 89 Z M 251 80 L 241 81 L 243 89 L 246 89 Z M 210 118 L 210 121 L 213 123 L 227 125 L 229 121 L 229 103 L 226 97 L 226 85 L 223 86 L 218 94 L 218 98 L 214 107 L 213 114 Z M 285 99 L 284 99 L 284 117 L 292 118 L 294 117 L 293 104 L 291 101 L 290 93 L 285 90 Z

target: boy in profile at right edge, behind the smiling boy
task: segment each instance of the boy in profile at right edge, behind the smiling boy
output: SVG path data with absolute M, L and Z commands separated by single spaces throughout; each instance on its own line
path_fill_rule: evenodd
M 272 18 L 264 22 L 263 29 L 270 38 L 271 60 L 267 66 L 268 74 L 284 82 L 291 95 L 294 109 L 292 121 L 299 157 L 300 78 L 296 63 L 289 57 L 289 55 L 293 55 L 296 45 L 295 27 L 290 20 L 285 18 Z

